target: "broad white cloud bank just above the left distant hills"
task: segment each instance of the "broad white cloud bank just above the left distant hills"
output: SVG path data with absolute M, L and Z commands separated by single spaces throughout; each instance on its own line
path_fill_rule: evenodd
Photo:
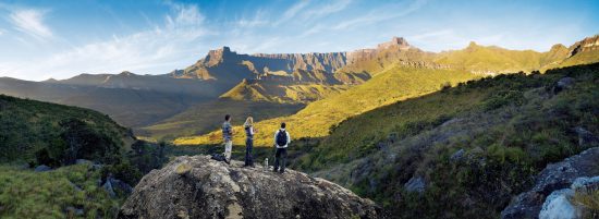
M 78 73 L 167 73 L 174 66 L 185 66 L 197 60 L 190 53 L 200 51 L 199 40 L 209 35 L 204 16 L 196 5 L 173 7 L 173 15 L 150 31 L 91 42 L 58 52 L 41 60 L 21 63 L 0 63 L 0 72 L 19 78 L 65 78 Z M 48 75 L 41 75 L 48 74 Z M 25 76 L 26 75 L 26 76 Z

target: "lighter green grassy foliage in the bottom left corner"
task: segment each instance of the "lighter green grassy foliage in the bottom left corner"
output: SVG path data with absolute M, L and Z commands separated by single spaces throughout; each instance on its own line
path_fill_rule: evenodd
M 100 172 L 89 165 L 49 172 L 0 166 L 0 218 L 114 218 L 124 199 L 110 198 L 98 180 Z

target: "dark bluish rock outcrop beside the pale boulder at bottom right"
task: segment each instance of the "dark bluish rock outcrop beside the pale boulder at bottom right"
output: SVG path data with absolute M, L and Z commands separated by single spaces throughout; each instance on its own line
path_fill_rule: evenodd
M 501 218 L 538 218 L 550 194 L 570 187 L 578 178 L 599 175 L 598 160 L 599 147 L 594 147 L 547 166 L 537 175 L 533 190 L 516 196 L 501 212 Z

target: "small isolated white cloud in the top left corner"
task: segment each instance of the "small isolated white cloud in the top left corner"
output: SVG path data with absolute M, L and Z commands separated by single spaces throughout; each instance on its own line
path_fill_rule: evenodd
M 52 32 L 44 23 L 45 15 L 46 11 L 26 9 L 14 11 L 9 17 L 17 31 L 37 39 L 45 39 L 52 37 Z

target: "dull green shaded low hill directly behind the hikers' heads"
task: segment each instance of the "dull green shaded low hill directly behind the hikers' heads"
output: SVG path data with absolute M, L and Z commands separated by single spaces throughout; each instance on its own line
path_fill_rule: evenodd
M 241 125 L 248 115 L 255 120 L 286 117 L 301 110 L 304 105 L 268 101 L 236 101 L 218 99 L 196 105 L 159 123 L 136 131 L 137 135 L 155 139 L 173 139 L 180 136 L 206 134 L 220 129 L 224 114 L 233 117 L 233 124 Z

